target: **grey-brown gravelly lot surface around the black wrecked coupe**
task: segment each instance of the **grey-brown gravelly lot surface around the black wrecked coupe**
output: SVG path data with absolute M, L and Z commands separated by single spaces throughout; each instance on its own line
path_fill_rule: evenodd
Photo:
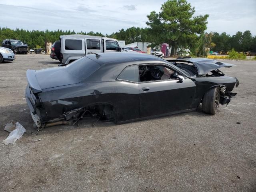
M 58 62 L 28 54 L 0 64 L 0 141 L 8 122 L 27 130 L 14 145 L 0 144 L 0 191 L 256 191 L 256 62 L 230 63 L 237 66 L 223 71 L 240 80 L 238 96 L 214 116 L 198 109 L 96 127 L 87 119 L 38 135 L 24 99 L 26 70 Z

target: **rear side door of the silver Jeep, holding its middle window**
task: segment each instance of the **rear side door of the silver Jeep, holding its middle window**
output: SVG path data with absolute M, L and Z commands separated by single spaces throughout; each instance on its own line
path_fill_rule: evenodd
M 101 38 L 86 38 L 86 55 L 93 53 L 102 53 Z

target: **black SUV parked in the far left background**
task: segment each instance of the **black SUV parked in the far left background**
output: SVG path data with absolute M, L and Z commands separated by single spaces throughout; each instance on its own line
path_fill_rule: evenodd
M 16 53 L 28 54 L 28 45 L 24 44 L 20 40 L 5 39 L 2 42 L 2 46 L 11 49 L 15 54 Z

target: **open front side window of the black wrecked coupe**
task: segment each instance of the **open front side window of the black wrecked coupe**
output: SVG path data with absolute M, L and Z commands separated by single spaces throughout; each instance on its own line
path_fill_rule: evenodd
M 161 65 L 142 65 L 139 66 L 140 82 L 176 79 L 171 68 Z

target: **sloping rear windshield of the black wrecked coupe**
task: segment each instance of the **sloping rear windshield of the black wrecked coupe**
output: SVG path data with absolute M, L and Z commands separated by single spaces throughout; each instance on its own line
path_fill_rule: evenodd
M 100 68 L 100 65 L 84 56 L 71 64 L 68 64 L 65 68 L 67 72 L 76 76 L 78 79 L 85 80 Z

